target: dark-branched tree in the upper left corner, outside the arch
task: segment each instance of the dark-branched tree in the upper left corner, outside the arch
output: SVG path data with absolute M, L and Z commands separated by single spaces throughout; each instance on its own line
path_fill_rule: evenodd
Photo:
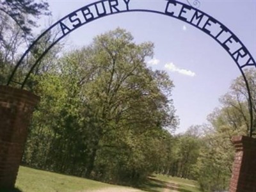
M 48 4 L 33 0 L 0 1 L 0 83 L 5 84 L 24 44 L 33 39 L 40 15 L 49 15 Z

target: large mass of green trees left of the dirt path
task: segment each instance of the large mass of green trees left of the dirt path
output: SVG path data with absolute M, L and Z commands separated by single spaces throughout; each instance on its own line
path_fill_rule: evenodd
M 177 126 L 168 97 L 173 83 L 147 68 L 153 44 L 132 40 L 124 29 L 109 31 L 33 77 L 41 102 L 24 163 L 135 184 L 170 160 L 170 131 Z

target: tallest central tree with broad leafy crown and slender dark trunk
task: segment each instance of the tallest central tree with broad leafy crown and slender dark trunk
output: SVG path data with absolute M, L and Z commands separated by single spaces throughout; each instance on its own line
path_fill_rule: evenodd
M 97 36 L 90 48 L 94 52 L 90 61 L 99 68 L 95 70 L 97 74 L 93 81 L 84 84 L 84 88 L 87 100 L 92 106 L 97 106 L 95 113 L 101 123 L 94 129 L 98 138 L 94 141 L 88 174 L 93 170 L 97 151 L 100 145 L 104 145 L 104 138 L 112 138 L 120 130 L 130 130 L 140 135 L 165 124 L 172 129 L 173 110 L 167 105 L 168 99 L 158 86 L 163 84 L 166 92 L 170 92 L 172 82 L 159 78 L 165 81 L 165 84 L 161 83 L 157 79 L 161 73 L 145 67 L 145 57 L 152 56 L 152 44 L 136 45 L 132 39 L 130 33 L 116 29 Z M 162 73 L 162 76 L 166 74 Z M 172 120 L 168 120 L 169 117 Z

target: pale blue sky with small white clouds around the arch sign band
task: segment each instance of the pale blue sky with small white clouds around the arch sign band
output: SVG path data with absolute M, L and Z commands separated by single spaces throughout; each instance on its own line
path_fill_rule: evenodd
M 157 7 L 165 0 L 131 1 L 141 7 Z M 199 1 L 199 9 L 225 24 L 256 59 L 256 0 Z M 95 1 L 48 2 L 56 22 Z M 205 123 L 207 115 L 220 105 L 219 97 L 228 92 L 232 79 L 240 75 L 236 63 L 210 36 L 185 22 L 154 13 L 121 13 L 90 22 L 65 38 L 66 49 L 90 44 L 93 36 L 117 27 L 130 31 L 138 43 L 154 42 L 155 55 L 148 66 L 166 70 L 175 84 L 173 100 L 180 118 L 177 132 Z

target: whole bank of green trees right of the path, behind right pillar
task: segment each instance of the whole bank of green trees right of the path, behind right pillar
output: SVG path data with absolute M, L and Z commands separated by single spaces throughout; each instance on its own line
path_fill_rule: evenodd
M 253 69 L 246 71 L 253 116 L 256 114 L 255 75 Z M 237 135 L 250 135 L 248 99 L 244 79 L 237 77 L 229 92 L 220 98 L 221 107 L 208 116 L 208 125 L 190 127 L 184 134 L 175 136 L 170 165 L 162 167 L 159 173 L 198 180 L 203 191 L 227 190 L 234 161 L 231 139 Z

